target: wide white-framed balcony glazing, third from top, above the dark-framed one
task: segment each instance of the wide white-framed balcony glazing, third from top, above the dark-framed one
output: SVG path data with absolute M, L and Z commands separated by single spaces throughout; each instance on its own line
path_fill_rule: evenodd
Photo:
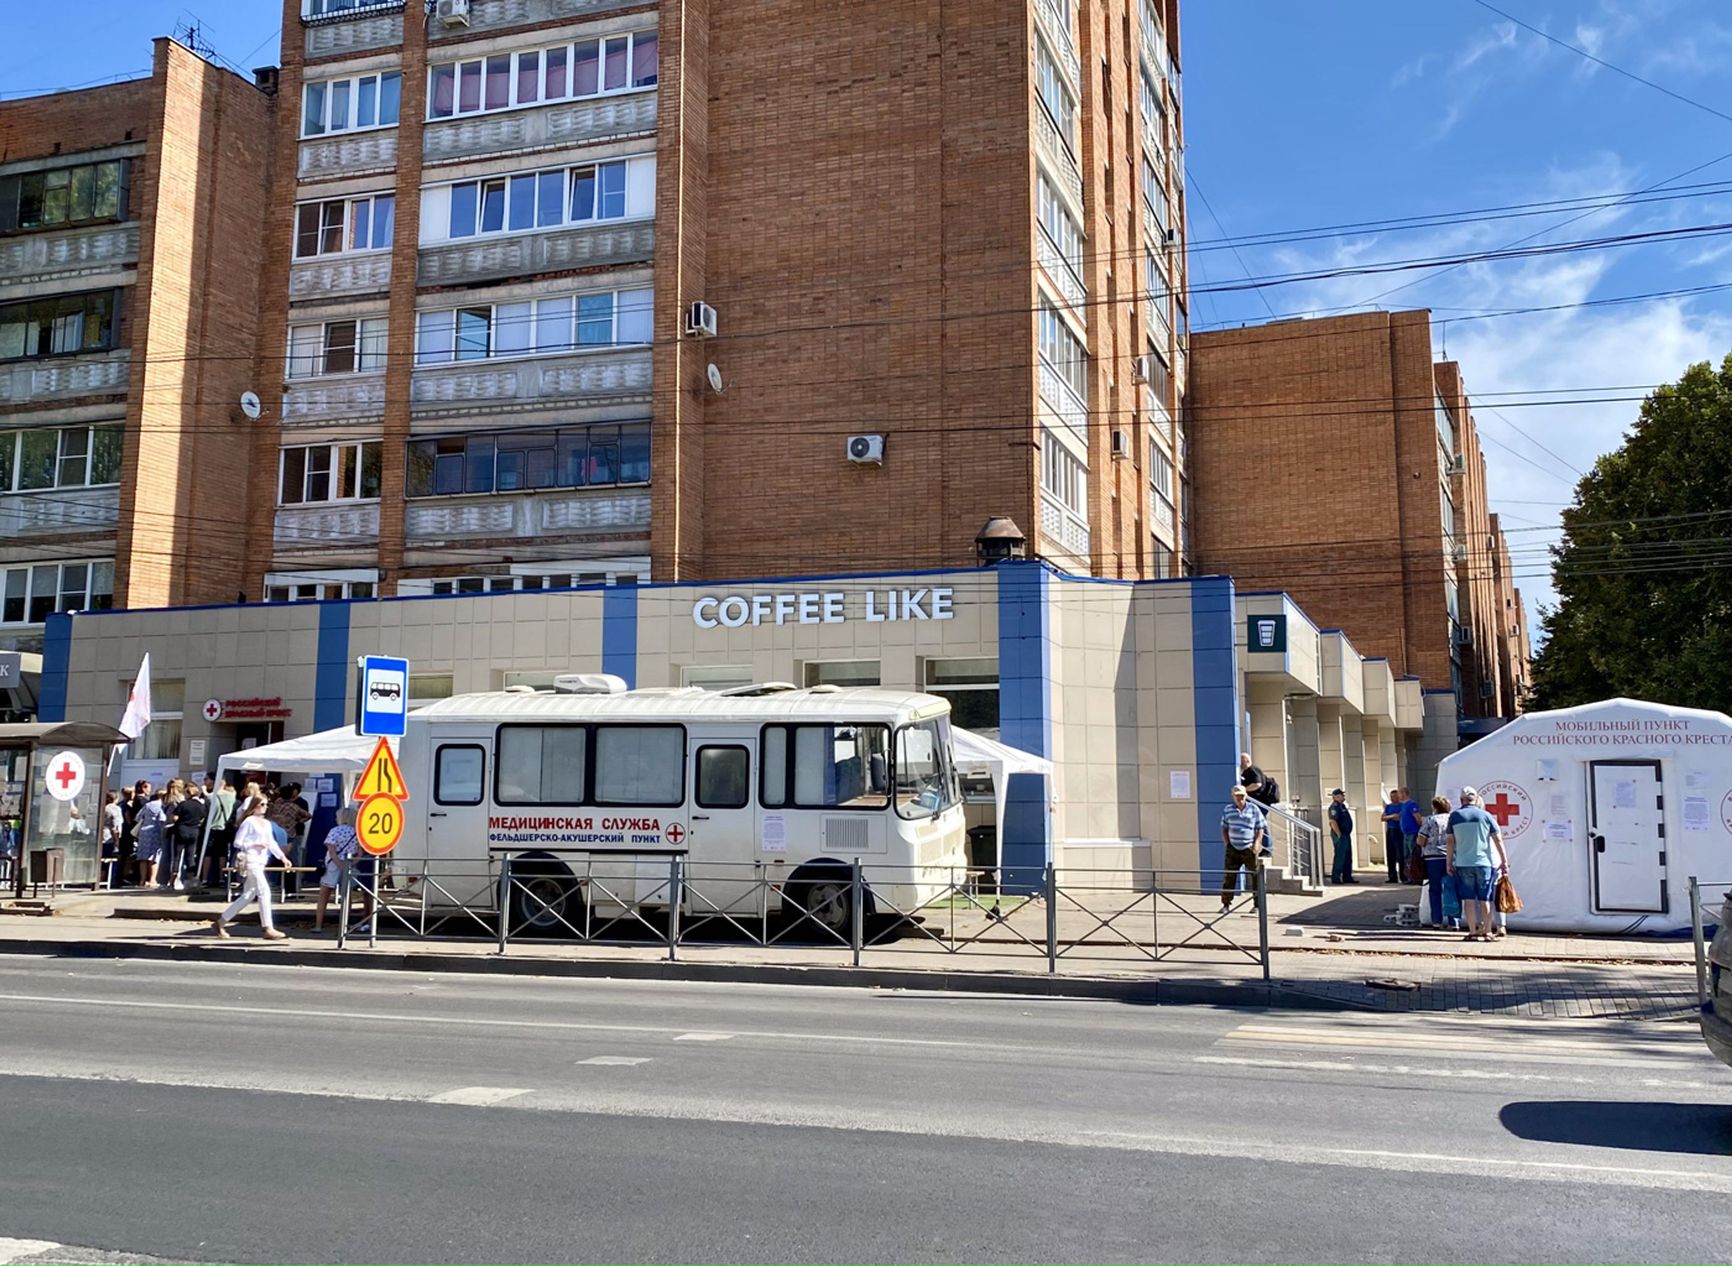
M 416 315 L 416 364 L 523 357 L 650 343 L 651 291 L 559 294 Z

